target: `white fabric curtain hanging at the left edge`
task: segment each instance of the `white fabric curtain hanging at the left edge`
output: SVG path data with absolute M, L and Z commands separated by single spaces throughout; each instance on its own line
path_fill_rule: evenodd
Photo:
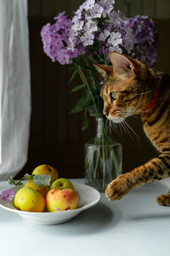
M 26 0 L 0 0 L 0 180 L 26 164 L 31 114 Z

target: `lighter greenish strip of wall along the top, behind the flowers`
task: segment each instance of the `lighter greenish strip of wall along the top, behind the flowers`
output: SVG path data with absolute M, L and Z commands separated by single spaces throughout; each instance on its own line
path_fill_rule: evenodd
M 29 15 L 54 17 L 64 10 L 71 15 L 72 11 L 83 2 L 83 0 L 28 0 Z M 156 19 L 168 19 L 170 16 L 169 0 L 116 0 L 114 6 L 128 16 L 149 15 Z

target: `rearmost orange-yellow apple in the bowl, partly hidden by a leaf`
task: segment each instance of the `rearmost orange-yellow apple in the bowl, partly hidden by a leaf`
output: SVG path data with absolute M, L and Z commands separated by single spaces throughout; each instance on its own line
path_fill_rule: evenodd
M 51 175 L 51 184 L 54 182 L 55 179 L 59 177 L 59 173 L 53 166 L 49 165 L 41 165 L 37 166 L 32 174 L 35 175 Z

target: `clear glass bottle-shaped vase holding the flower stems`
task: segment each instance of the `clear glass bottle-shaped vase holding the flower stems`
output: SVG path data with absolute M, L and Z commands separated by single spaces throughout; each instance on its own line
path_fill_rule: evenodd
M 84 146 L 85 183 L 105 192 L 107 185 L 122 173 L 122 145 L 111 141 L 104 119 L 96 121 L 96 136 Z

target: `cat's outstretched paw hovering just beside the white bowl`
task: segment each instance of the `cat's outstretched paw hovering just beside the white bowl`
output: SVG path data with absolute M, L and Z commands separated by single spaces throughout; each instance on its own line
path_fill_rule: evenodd
M 109 183 L 107 189 L 105 189 L 105 196 L 111 201 L 120 200 L 129 191 L 126 175 L 122 174 Z

